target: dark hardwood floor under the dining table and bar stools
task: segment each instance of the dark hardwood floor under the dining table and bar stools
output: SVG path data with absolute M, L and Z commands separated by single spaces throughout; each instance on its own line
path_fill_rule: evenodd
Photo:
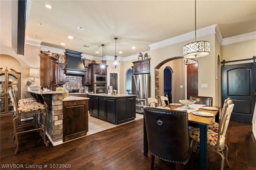
M 14 155 L 12 117 L 0 118 L 0 164 L 16 164 L 18 169 L 57 169 L 56 164 L 70 165 L 72 170 L 148 170 L 150 154 L 143 155 L 143 119 L 103 132 L 92 134 L 58 146 L 45 146 L 36 132 L 19 135 L 19 149 Z M 229 147 L 230 168 L 226 170 L 256 170 L 256 141 L 252 124 L 230 121 L 226 144 Z M 221 158 L 208 152 L 208 169 L 219 170 Z M 199 168 L 199 154 L 195 153 L 194 169 Z M 47 168 L 44 165 L 48 165 Z M 42 167 L 40 167 L 42 166 Z M 52 168 L 51 168 L 52 166 Z M 189 169 L 189 164 L 182 169 Z M 155 159 L 154 170 L 172 170 L 175 165 Z

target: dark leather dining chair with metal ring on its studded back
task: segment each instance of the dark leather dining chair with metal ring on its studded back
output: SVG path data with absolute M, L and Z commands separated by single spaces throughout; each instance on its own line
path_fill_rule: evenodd
M 186 164 L 190 159 L 194 143 L 188 134 L 187 111 L 144 106 L 144 119 L 151 170 L 155 157 L 175 163 L 176 169 L 180 169 L 180 164 Z

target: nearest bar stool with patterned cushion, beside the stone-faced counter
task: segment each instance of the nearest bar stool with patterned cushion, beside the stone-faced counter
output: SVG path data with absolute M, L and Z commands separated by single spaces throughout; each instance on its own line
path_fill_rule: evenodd
M 18 151 L 18 134 L 25 132 L 38 131 L 40 136 L 44 139 L 44 144 L 49 145 L 49 140 L 46 141 L 46 105 L 38 102 L 26 103 L 24 105 L 18 105 L 17 96 L 14 90 L 11 90 L 11 100 L 14 105 L 14 118 L 13 118 L 13 128 L 15 136 L 15 146 L 16 150 L 14 154 Z M 22 117 L 30 118 L 28 121 L 20 121 Z

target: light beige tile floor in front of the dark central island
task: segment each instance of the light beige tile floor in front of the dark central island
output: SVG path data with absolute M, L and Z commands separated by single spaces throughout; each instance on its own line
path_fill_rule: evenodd
M 142 114 L 136 113 L 136 118 L 133 121 L 136 121 L 136 120 L 142 119 L 142 118 L 143 118 Z M 126 123 L 130 123 L 130 122 L 132 122 L 132 121 L 129 121 L 129 122 L 126 122 Z M 117 126 L 126 124 L 126 123 L 122 123 L 122 124 L 119 124 L 119 125 L 114 125 L 112 123 L 102 121 L 102 120 L 97 119 L 95 117 L 92 117 L 90 115 L 88 116 L 88 123 L 89 123 L 88 124 L 89 131 L 87 132 L 86 136 L 97 133 L 97 132 L 101 132 L 103 130 L 107 130 L 107 129 L 110 129 L 110 128 L 113 128 L 113 127 L 117 127 Z

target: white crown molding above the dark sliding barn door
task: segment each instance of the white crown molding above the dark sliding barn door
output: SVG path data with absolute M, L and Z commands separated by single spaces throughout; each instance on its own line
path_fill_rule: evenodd
M 256 39 L 256 31 L 249 32 L 246 34 L 241 34 L 238 36 L 223 38 L 221 41 L 221 45 L 228 45 L 232 43 L 244 42 L 244 41 L 254 40 L 254 39 Z

